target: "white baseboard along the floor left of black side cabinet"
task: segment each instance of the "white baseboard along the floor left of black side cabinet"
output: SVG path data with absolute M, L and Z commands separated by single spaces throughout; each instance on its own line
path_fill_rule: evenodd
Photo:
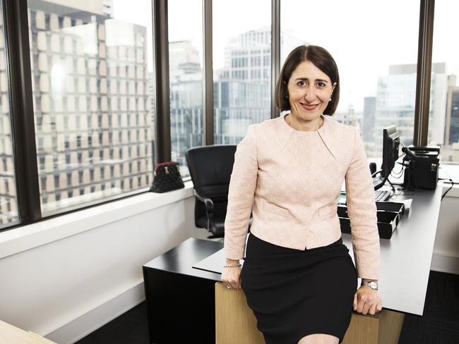
M 143 279 L 110 300 L 44 335 L 59 344 L 73 344 L 145 300 Z

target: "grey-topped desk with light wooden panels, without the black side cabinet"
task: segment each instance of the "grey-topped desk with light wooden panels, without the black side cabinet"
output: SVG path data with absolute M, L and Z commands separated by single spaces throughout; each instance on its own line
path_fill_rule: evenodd
M 400 195 L 393 202 L 412 199 L 410 210 L 398 223 L 391 240 L 381 239 L 381 276 L 379 295 L 383 310 L 374 316 L 352 312 L 344 344 L 397 344 L 405 313 L 422 315 L 435 234 L 439 219 L 441 188 L 416 190 Z M 351 235 L 342 233 L 342 242 L 354 261 Z M 212 271 L 221 272 L 224 252 L 216 252 Z M 355 262 L 354 262 L 355 264 Z M 217 344 L 263 343 L 253 324 L 254 315 L 247 307 L 242 290 L 227 290 L 215 285 Z M 256 324 L 256 323 L 255 323 Z M 246 341 L 244 338 L 251 338 Z

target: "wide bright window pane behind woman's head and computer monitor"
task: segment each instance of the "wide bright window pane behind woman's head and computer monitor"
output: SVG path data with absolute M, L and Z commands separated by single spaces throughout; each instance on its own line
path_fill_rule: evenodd
M 397 11 L 393 11 L 393 8 Z M 308 16 L 304 29 L 304 13 Z M 358 9 L 358 11 L 356 11 Z M 375 13 L 378 13 L 375 15 Z M 395 124 L 405 145 L 415 122 L 419 1 L 298 2 L 283 0 L 281 66 L 300 44 L 327 49 L 340 71 L 340 103 L 333 118 L 358 127 L 368 156 L 381 156 L 382 129 Z M 400 25 L 388 25 L 403 23 Z

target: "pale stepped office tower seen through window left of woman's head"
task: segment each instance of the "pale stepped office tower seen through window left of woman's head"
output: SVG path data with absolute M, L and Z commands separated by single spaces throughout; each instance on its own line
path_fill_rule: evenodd
M 270 30 L 261 27 L 244 32 L 225 47 L 224 66 L 214 71 L 215 144 L 238 143 L 248 125 L 271 116 Z M 282 32 L 281 41 L 282 49 L 304 44 L 288 32 Z

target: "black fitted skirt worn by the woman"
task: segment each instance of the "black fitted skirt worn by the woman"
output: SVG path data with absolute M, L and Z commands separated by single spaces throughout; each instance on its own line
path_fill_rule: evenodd
M 341 238 L 294 250 L 249 234 L 241 278 L 266 344 L 297 344 L 313 333 L 342 342 L 352 317 L 357 271 Z

